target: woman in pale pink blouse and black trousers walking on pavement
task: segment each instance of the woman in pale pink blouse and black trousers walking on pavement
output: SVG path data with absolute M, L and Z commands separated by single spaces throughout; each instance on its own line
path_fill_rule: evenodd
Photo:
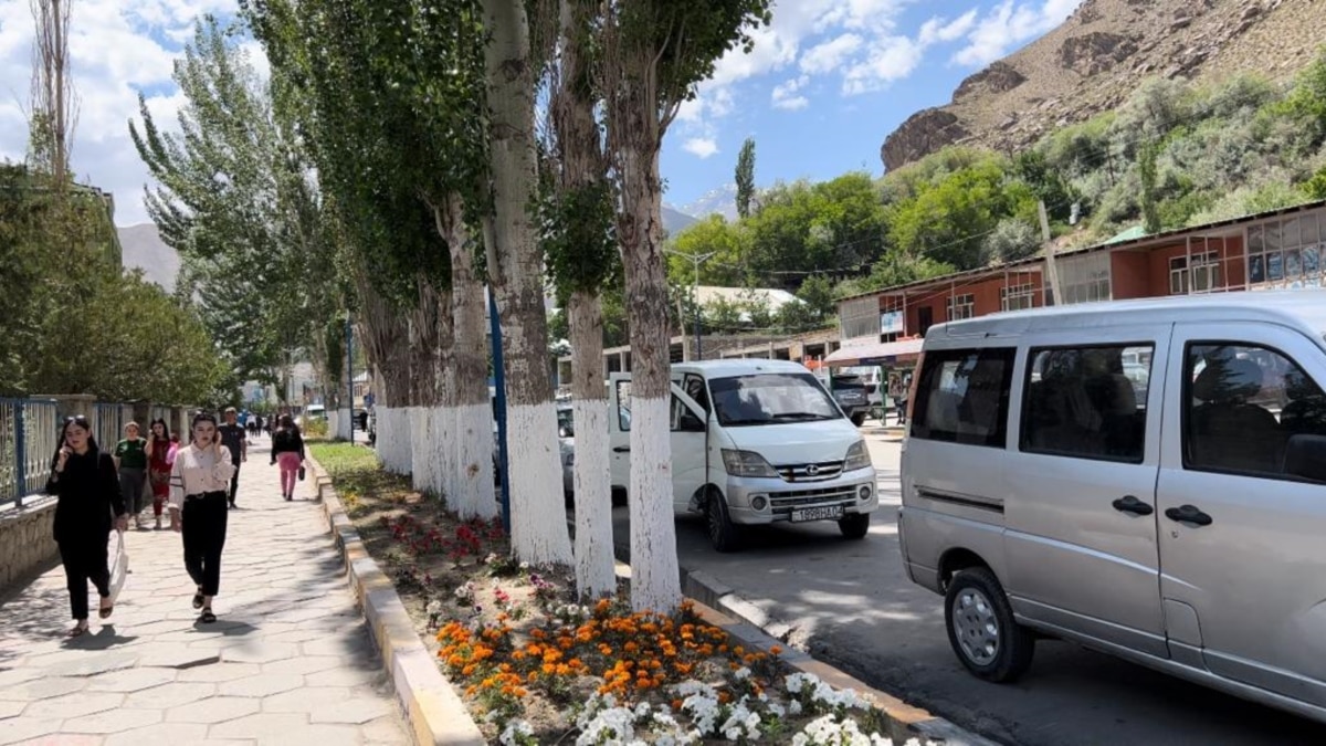
M 221 550 L 228 522 L 227 488 L 235 463 L 221 445 L 216 417 L 199 411 L 190 429 L 194 439 L 175 454 L 170 477 L 170 527 L 183 534 L 184 569 L 198 585 L 194 608 L 203 624 L 216 621 L 212 599 L 221 583 Z

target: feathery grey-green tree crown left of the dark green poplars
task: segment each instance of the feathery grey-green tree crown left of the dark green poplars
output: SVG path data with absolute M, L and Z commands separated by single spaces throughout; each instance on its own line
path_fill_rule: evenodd
M 147 211 L 179 251 L 182 288 L 239 380 L 273 382 L 292 350 L 314 348 L 338 303 L 335 272 L 306 143 L 273 108 L 231 29 L 196 25 L 175 81 L 180 135 L 163 133 L 139 97 L 139 157 L 160 186 Z

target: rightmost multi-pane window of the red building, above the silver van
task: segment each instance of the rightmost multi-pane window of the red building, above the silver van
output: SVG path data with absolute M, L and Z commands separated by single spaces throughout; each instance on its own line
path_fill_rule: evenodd
M 1305 212 L 1248 228 L 1248 285 L 1252 289 L 1323 287 L 1326 215 Z

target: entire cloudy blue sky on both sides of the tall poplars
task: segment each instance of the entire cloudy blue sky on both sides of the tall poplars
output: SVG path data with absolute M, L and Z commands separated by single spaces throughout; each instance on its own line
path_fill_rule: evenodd
M 756 182 L 879 174 L 879 146 L 912 113 L 1062 23 L 1082 0 L 776 0 L 751 54 L 731 53 L 683 106 L 663 149 L 674 204 L 732 182 L 737 150 L 756 139 Z M 70 52 L 78 92 L 73 166 L 115 195 L 115 222 L 146 222 L 147 171 L 129 138 L 138 93 L 158 122 L 183 101 L 171 68 L 202 13 L 236 0 L 78 0 Z M 33 21 L 0 1 L 0 159 L 23 159 Z M 253 58 L 265 66 L 253 45 Z

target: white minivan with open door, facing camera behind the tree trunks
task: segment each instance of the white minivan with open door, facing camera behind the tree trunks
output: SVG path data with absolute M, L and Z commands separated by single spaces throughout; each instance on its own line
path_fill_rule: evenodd
M 613 490 L 630 485 L 631 377 L 613 374 Z M 749 524 L 835 520 L 861 539 L 879 507 L 861 433 L 814 374 L 785 360 L 672 366 L 672 507 L 703 514 L 713 548 Z

